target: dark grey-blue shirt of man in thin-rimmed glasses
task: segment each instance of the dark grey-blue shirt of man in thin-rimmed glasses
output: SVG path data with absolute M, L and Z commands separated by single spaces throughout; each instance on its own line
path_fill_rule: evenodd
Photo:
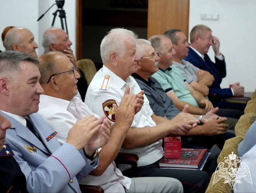
M 140 89 L 144 90 L 145 95 L 149 100 L 149 105 L 156 116 L 166 116 L 171 120 L 180 113 L 180 110 L 175 107 L 171 98 L 166 95 L 163 88 L 155 78 L 150 77 L 147 82 L 138 74 L 133 73 L 132 76 L 137 81 Z

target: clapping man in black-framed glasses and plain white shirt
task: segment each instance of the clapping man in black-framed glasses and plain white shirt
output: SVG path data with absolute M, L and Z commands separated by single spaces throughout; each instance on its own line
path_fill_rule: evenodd
M 40 111 L 38 112 L 43 119 L 50 125 L 52 130 L 57 131 L 57 139 L 61 144 L 66 141 L 67 133 L 73 125 L 83 117 L 94 114 L 80 98 L 74 97 L 77 93 L 77 79 L 80 77 L 77 71 L 72 69 L 72 63 L 67 56 L 59 52 L 43 54 L 39 58 L 40 73 L 42 74 L 40 83 L 45 90 L 41 97 Z M 62 73 L 64 72 L 64 73 Z M 62 73 L 68 73 L 61 77 Z M 52 76 L 52 74 L 57 74 Z M 114 159 L 116 158 L 125 135 L 130 128 L 135 112 L 140 110 L 143 104 L 141 98 L 135 95 L 128 95 L 127 88 L 125 97 L 119 108 L 116 107 L 116 124 L 112 125 L 109 142 L 99 149 L 100 161 L 97 170 L 86 176 L 80 184 L 101 186 L 105 192 L 182 192 L 181 183 L 172 178 L 127 178 L 116 168 Z M 103 123 L 109 123 L 105 115 Z M 121 120 L 123 119 L 123 120 Z M 106 126 L 102 125 L 102 130 Z M 101 132 L 100 130 L 99 132 Z M 99 140 L 99 147 L 105 139 Z M 87 146 L 90 146 L 90 142 Z M 96 147 L 91 147 L 94 149 Z M 90 159 L 90 157 L 88 157 Z

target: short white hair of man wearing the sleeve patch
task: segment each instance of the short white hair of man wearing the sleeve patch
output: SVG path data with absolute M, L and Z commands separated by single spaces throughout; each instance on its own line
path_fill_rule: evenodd
M 120 56 L 123 56 L 126 49 L 124 41 L 127 38 L 131 38 L 135 41 L 138 36 L 133 31 L 127 29 L 111 29 L 100 44 L 100 56 L 102 61 L 109 62 L 109 54 L 111 52 L 116 52 Z

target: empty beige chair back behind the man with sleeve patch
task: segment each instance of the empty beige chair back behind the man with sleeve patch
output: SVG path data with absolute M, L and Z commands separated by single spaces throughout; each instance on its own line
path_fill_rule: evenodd
M 85 79 L 88 83 L 92 81 L 94 75 L 97 73 L 97 69 L 95 67 L 95 64 L 90 59 L 81 59 L 77 61 L 78 67 L 83 71 L 85 74 Z

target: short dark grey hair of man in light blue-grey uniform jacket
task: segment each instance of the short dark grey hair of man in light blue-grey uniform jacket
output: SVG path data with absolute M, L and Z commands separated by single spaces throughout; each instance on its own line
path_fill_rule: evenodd
M 39 64 L 38 60 L 29 54 L 17 51 L 4 51 L 0 54 L 0 76 L 18 71 L 20 69 L 20 62 Z

